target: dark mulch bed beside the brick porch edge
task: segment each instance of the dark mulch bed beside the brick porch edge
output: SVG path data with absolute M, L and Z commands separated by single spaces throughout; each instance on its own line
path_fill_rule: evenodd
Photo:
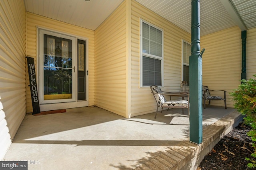
M 202 160 L 197 170 L 252 170 L 247 167 L 253 158 L 252 139 L 247 136 L 250 127 L 240 123 L 224 136 Z

